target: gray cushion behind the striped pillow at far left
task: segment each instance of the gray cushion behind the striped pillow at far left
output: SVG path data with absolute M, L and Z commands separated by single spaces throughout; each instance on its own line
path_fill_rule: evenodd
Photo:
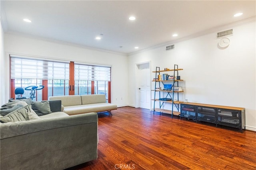
M 11 113 L 12 111 L 15 111 L 16 109 L 18 109 L 20 107 L 24 107 L 26 105 L 28 105 L 28 104 L 24 101 L 6 103 L 1 106 L 0 115 L 5 116 L 8 113 Z

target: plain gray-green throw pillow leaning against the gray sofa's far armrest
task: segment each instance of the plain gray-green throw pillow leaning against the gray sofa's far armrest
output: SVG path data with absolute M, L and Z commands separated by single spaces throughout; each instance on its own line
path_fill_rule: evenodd
M 32 102 L 32 109 L 36 112 L 36 114 L 38 116 L 47 115 L 49 113 L 52 113 L 48 100 Z

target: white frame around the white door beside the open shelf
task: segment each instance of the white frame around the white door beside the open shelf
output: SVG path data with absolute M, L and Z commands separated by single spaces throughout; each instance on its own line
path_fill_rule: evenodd
M 135 108 L 138 108 L 140 107 L 140 91 L 138 89 L 138 87 L 140 86 L 139 85 L 139 77 L 138 77 L 138 72 L 139 72 L 139 69 L 138 69 L 138 65 L 140 64 L 145 64 L 145 63 L 149 63 L 149 74 L 150 74 L 150 77 L 151 77 L 151 61 L 145 61 L 145 62 L 142 62 L 142 63 L 136 63 L 135 64 Z M 150 82 L 150 89 L 151 89 L 151 82 Z M 152 93 L 150 93 L 150 100 L 151 100 L 151 96 L 152 96 Z M 150 108 L 151 108 L 151 105 L 152 105 L 152 102 L 150 102 Z

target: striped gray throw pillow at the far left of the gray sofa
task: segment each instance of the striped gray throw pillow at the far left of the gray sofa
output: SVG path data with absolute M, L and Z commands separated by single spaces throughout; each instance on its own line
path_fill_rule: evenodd
M 31 106 L 31 105 L 30 105 Z M 14 121 L 26 121 L 29 120 L 28 111 L 29 105 L 20 107 L 5 116 L 0 117 L 1 123 L 14 122 Z

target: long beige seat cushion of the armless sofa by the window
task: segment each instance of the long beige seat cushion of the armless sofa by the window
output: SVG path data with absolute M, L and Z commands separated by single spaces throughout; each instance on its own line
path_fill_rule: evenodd
M 109 111 L 114 109 L 117 109 L 116 104 L 96 103 L 96 104 L 85 104 L 85 105 L 78 105 L 78 106 L 66 106 L 63 111 L 68 115 L 73 115 L 73 114 L 81 114 L 81 113 Z

